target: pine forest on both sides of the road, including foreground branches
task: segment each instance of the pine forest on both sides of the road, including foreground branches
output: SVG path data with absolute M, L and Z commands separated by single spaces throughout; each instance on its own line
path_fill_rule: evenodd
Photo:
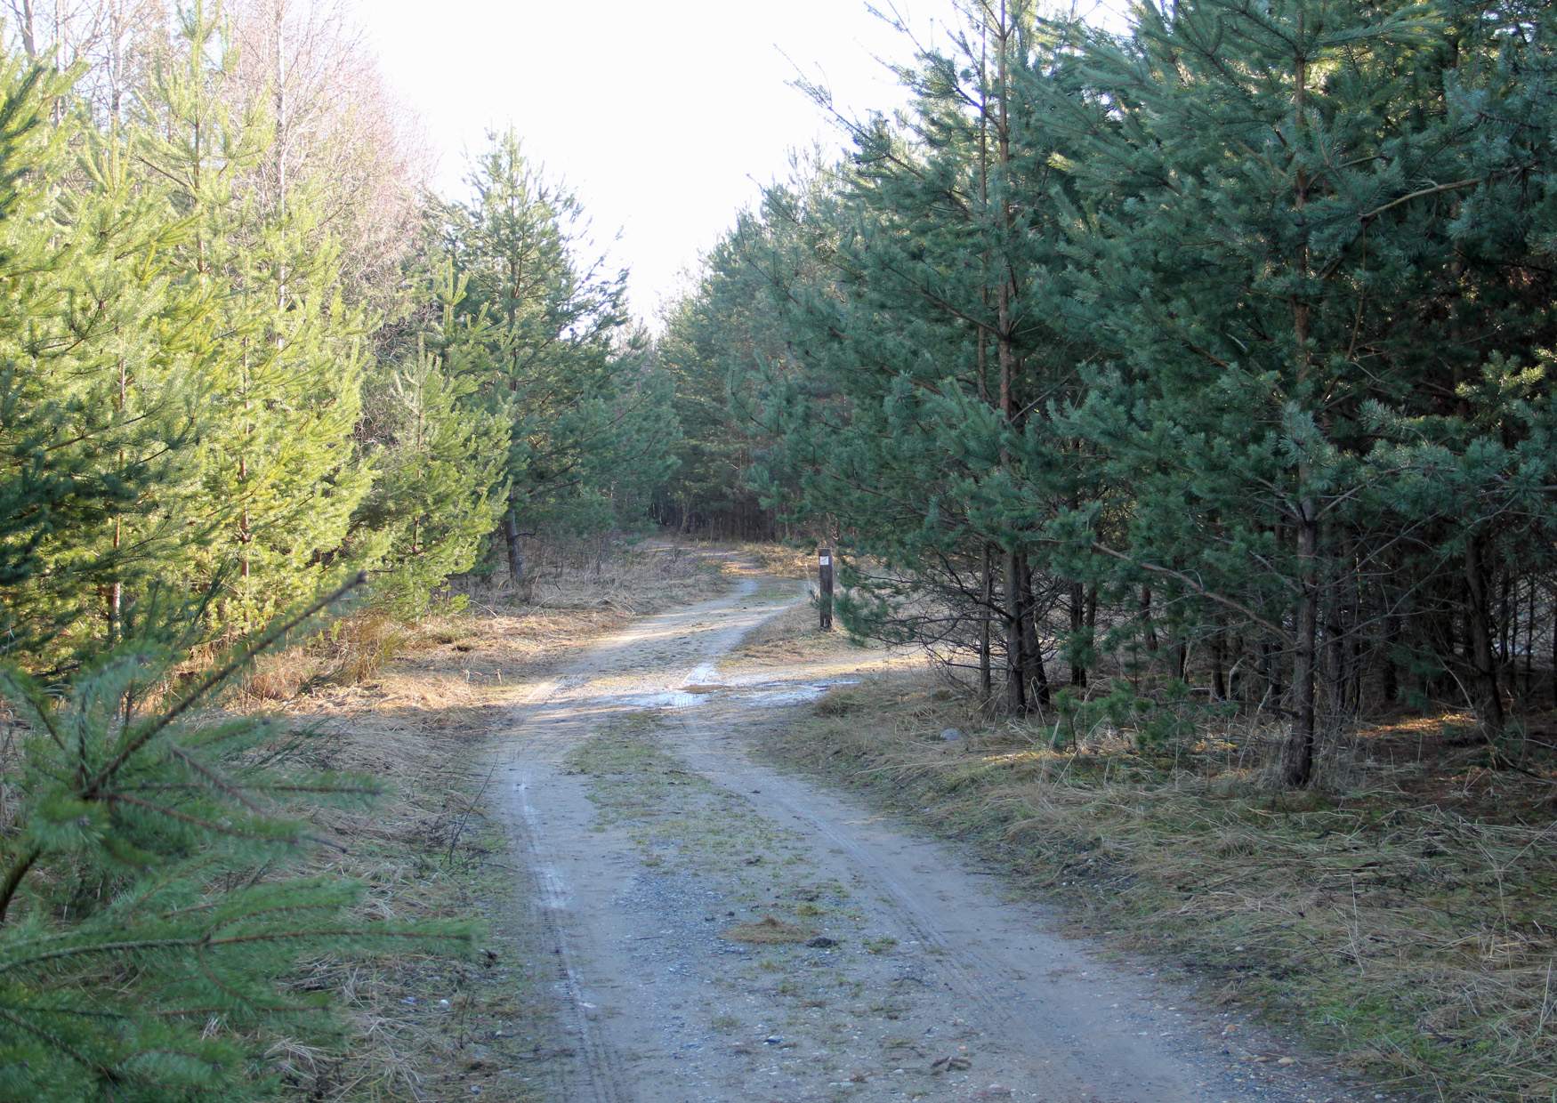
M 297 862 L 383 786 L 221 706 L 537 548 L 835 548 L 1054 747 L 1241 717 L 1325 790 L 1431 717 L 1557 784 L 1551 5 L 968 0 L 902 110 L 800 82 L 845 148 L 659 325 L 522 135 L 438 194 L 327 8 L 8 6 L 0 1098 L 285 1094 L 299 954 L 466 952 Z

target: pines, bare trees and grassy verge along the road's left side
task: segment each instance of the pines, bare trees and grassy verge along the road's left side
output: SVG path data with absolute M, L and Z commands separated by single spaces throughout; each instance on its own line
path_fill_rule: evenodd
M 676 434 L 624 274 L 511 132 L 433 193 L 339 5 L 9 8 L 0 1095 L 425 1098 L 523 664 L 369 686 L 472 601 L 550 661 L 680 593 L 612 582 Z

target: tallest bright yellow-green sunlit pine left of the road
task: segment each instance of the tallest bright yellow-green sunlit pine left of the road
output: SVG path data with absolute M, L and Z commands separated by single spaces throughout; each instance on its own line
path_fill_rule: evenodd
M 184 16 L 182 50 L 159 68 L 142 114 L 143 163 L 195 227 L 177 255 L 182 278 L 220 303 L 204 358 L 213 428 L 188 498 L 218 535 L 192 548 L 184 569 L 201 582 L 230 566 L 213 615 L 243 633 L 343 559 L 380 551 L 343 546 L 372 478 L 353 445 L 366 319 L 341 299 L 338 250 L 310 188 L 246 190 L 271 120 L 263 106 L 240 118 L 224 106 L 237 58 L 202 5 Z

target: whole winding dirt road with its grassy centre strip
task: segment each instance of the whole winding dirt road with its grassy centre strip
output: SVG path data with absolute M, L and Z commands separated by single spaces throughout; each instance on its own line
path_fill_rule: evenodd
M 532 1089 L 568 1103 L 1353 1098 L 1281 1064 L 1274 1042 L 1250 1047 L 1246 1025 L 1230 1045 L 1225 1016 L 1059 937 L 951 848 L 754 758 L 849 674 L 721 664 L 802 599 L 747 579 L 643 619 L 515 711 L 492 803 L 557 1022 Z

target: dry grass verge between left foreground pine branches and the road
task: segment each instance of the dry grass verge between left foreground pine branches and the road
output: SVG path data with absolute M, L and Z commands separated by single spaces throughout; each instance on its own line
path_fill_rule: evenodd
M 367 811 L 313 814 L 344 846 L 321 854 L 315 871 L 363 882 L 364 912 L 413 923 L 494 916 L 503 843 L 478 806 L 478 751 L 508 714 L 525 660 L 542 661 L 545 635 L 522 636 L 511 653 L 500 625 L 447 618 L 411 633 L 409 653 L 374 681 L 325 685 L 286 703 L 296 728 L 316 733 L 301 750 L 310 765 L 369 773 L 391 790 Z M 397 947 L 307 963 L 291 983 L 336 994 L 350 1044 L 279 1045 L 272 1058 L 290 1087 L 318 1100 L 452 1098 L 483 1086 L 523 1098 L 503 1069 L 532 1056 L 526 1024 L 537 1011 L 525 996 L 526 963 L 492 946 L 466 958 Z

